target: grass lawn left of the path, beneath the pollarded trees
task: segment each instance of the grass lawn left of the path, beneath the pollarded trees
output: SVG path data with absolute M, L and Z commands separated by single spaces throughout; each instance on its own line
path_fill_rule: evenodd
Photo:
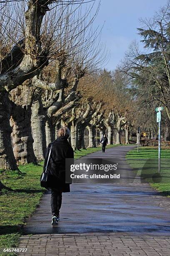
M 116 145 L 109 145 L 110 148 Z M 101 148 L 87 148 L 75 151 L 75 159 Z M 18 171 L 0 170 L 0 180 L 12 191 L 2 189 L 0 194 L 0 256 L 15 255 L 3 253 L 3 248 L 16 248 L 22 234 L 22 226 L 38 207 L 45 189 L 40 187 L 43 162 L 38 165 L 26 164 Z

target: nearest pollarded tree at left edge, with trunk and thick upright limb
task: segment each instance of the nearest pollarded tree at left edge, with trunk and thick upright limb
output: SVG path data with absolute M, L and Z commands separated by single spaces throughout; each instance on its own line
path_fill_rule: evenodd
M 3 8 L 2 10 L 8 8 L 8 13 L 10 13 L 11 5 L 5 5 L 4 3 Z M 10 49 L 10 51 L 12 50 L 11 53 L 7 54 L 6 52 L 5 56 L 0 54 L 2 56 L 0 74 L 0 168 L 2 169 L 17 169 L 11 146 L 10 100 L 8 95 L 11 90 L 33 76 L 34 72 L 47 62 L 46 53 L 42 51 L 40 42 L 40 27 L 47 10 L 48 4 L 46 1 L 30 1 L 25 12 L 23 48 L 15 42 L 14 38 L 13 44 L 15 45 L 13 49 Z M 6 22 L 6 20 L 1 20 L 1 22 Z M 2 25 L 5 27 L 5 24 Z M 5 35 L 2 35 L 2 33 L 3 31 L 1 31 L 1 37 L 4 38 Z M 7 38 L 9 38 L 9 34 Z M 3 51 L 3 48 L 2 46 L 0 51 Z M 19 50 L 22 51 L 22 54 Z M 20 55 L 19 60 L 18 55 Z M 17 56 L 16 59 L 15 56 Z

